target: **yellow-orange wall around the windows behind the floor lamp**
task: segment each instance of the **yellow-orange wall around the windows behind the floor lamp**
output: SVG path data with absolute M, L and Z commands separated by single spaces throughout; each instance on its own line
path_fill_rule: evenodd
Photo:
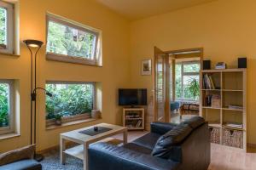
M 75 65 L 45 59 L 45 46 L 38 55 L 38 86 L 46 80 L 102 82 L 102 122 L 120 123 L 117 88 L 125 88 L 129 77 L 129 23 L 90 0 L 20 0 L 20 41 L 45 42 L 45 14 L 58 14 L 102 30 L 103 66 Z M 0 54 L 0 78 L 20 82 L 20 137 L 0 140 L 0 152 L 19 148 L 30 141 L 30 55 L 20 43 L 20 57 Z M 44 95 L 38 95 L 38 150 L 59 144 L 59 133 L 91 123 L 45 130 Z M 98 121 L 99 122 L 99 121 Z

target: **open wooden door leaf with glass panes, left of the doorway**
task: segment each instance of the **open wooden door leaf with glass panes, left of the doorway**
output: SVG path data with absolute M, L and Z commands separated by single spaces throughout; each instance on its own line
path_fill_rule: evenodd
M 154 48 L 154 121 L 169 122 L 169 59 L 168 54 Z

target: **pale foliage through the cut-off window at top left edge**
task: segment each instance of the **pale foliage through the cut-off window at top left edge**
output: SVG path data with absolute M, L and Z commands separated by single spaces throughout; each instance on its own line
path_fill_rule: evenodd
M 0 45 L 6 45 L 6 9 L 0 8 Z M 1 46 L 0 46 L 1 47 Z

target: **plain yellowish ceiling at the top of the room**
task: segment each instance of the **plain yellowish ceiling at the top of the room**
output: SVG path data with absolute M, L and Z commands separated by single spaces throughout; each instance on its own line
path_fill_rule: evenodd
M 139 20 L 156 14 L 164 14 L 179 8 L 187 8 L 214 0 L 95 0 L 122 14 L 129 20 Z

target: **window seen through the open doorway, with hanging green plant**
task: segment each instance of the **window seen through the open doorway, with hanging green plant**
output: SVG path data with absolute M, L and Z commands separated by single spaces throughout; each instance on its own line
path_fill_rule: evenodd
M 175 65 L 176 99 L 198 100 L 200 95 L 200 62 L 183 61 Z

